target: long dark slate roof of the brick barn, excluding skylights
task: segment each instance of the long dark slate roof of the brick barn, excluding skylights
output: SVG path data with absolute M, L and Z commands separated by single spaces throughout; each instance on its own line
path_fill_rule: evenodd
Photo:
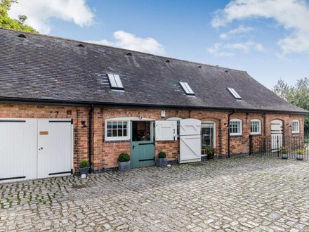
M 2 100 L 308 113 L 244 71 L 3 28 L 0 44 Z M 124 92 L 110 89 L 107 72 L 121 77 Z M 195 97 L 185 95 L 180 81 Z

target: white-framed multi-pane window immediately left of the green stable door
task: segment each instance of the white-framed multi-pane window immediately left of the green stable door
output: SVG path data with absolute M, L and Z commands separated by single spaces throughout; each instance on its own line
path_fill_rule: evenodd
M 127 140 L 129 139 L 129 121 L 107 121 L 105 133 L 107 141 Z

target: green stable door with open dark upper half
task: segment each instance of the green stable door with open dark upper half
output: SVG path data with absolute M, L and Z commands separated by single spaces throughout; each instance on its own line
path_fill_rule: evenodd
M 131 167 L 155 165 L 154 122 L 131 122 Z

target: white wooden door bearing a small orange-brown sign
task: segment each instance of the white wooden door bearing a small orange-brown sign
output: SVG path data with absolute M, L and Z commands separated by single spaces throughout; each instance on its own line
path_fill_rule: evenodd
M 38 178 L 72 172 L 71 120 L 38 120 Z

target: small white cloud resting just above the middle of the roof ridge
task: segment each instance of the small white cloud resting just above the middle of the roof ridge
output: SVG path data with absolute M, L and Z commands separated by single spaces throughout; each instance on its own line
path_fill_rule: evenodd
M 116 41 L 107 41 L 102 39 L 99 41 L 87 41 L 94 44 L 103 44 L 107 46 L 117 46 L 121 49 L 130 49 L 134 51 L 143 51 L 145 53 L 163 54 L 164 47 L 157 40 L 147 37 L 137 37 L 135 34 L 131 34 L 124 31 L 117 31 L 113 34 Z

